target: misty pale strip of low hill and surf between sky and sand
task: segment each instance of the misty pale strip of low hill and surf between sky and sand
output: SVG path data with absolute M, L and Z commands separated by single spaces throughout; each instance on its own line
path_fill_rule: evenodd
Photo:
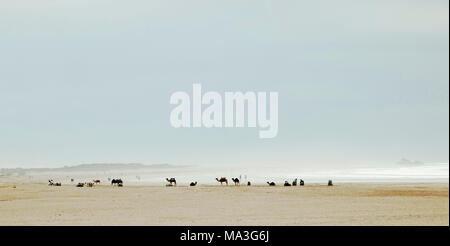
M 329 179 L 336 182 L 449 182 L 448 163 L 422 165 L 395 165 L 388 167 L 362 167 L 321 170 L 301 169 L 301 167 L 215 167 L 171 164 L 81 164 L 59 168 L 2 168 L 0 181 L 27 178 L 33 182 L 47 182 L 48 179 L 65 184 L 71 180 L 80 182 L 100 179 L 109 182 L 121 178 L 130 185 L 160 185 L 166 178 L 175 177 L 181 183 L 198 181 L 201 184 L 217 184 L 215 178 L 239 178 L 242 182 L 265 184 L 267 181 L 304 179 L 307 183 L 323 183 Z

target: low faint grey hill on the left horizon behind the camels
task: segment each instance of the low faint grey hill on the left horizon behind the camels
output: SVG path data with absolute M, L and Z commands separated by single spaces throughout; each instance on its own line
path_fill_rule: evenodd
M 155 169 L 155 168 L 176 168 L 170 164 L 152 164 L 145 165 L 140 163 L 92 163 L 80 164 L 75 166 L 64 166 L 58 168 L 2 168 L 1 174 L 19 174 L 27 172 L 76 172 L 76 171 L 113 171 L 113 170 L 136 170 L 136 169 Z

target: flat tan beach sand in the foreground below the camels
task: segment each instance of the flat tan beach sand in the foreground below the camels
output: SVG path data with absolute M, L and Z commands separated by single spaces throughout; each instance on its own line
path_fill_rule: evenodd
M 16 188 L 13 188 L 16 185 Z M 0 186 L 0 225 L 449 225 L 448 183 Z

